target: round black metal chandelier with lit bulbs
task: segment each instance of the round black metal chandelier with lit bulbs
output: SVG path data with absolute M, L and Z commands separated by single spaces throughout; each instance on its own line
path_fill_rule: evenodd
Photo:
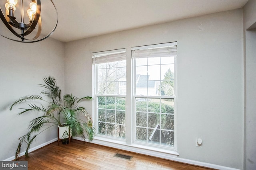
M 38 42 L 49 37 L 56 29 L 58 13 L 52 0 L 48 0 L 48 2 L 47 0 L 43 0 L 43 3 L 44 4 L 41 5 L 40 0 L 20 0 L 20 3 L 18 3 L 18 0 L 7 0 L 7 3 L 5 4 L 5 13 L 3 13 L 0 8 L 0 18 L 6 26 L 5 28 L 0 28 L 2 31 L 0 35 L 7 39 L 22 43 Z M 16 8 L 18 10 L 16 10 Z M 49 9 L 54 10 L 55 12 L 47 11 Z M 24 16 L 24 10 L 27 10 L 28 16 L 26 17 Z M 14 16 L 14 12 L 15 14 L 17 13 L 16 11 L 20 11 L 19 21 Z M 41 19 L 42 14 L 44 17 L 42 17 L 43 19 Z M 46 27 L 43 30 L 42 20 Z

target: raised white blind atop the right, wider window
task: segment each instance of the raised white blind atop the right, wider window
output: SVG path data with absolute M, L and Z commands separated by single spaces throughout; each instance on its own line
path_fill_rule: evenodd
M 132 58 L 145 57 L 176 57 L 177 42 L 148 45 L 143 47 L 132 47 Z

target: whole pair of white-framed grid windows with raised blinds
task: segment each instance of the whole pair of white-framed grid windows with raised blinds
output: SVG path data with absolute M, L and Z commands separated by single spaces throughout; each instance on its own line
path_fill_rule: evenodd
M 176 44 L 93 53 L 98 140 L 176 151 Z

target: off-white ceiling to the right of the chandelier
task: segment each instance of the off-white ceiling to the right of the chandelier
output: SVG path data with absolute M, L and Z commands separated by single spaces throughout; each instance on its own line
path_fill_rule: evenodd
M 74 41 L 126 29 L 242 8 L 248 0 L 53 0 L 52 38 Z

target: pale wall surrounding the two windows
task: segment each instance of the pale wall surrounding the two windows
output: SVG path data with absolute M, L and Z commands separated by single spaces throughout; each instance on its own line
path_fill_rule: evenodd
M 65 92 L 92 96 L 92 52 L 126 48 L 131 56 L 131 47 L 173 41 L 178 42 L 179 158 L 242 169 L 241 9 L 66 43 Z M 196 147 L 198 137 L 202 147 Z

